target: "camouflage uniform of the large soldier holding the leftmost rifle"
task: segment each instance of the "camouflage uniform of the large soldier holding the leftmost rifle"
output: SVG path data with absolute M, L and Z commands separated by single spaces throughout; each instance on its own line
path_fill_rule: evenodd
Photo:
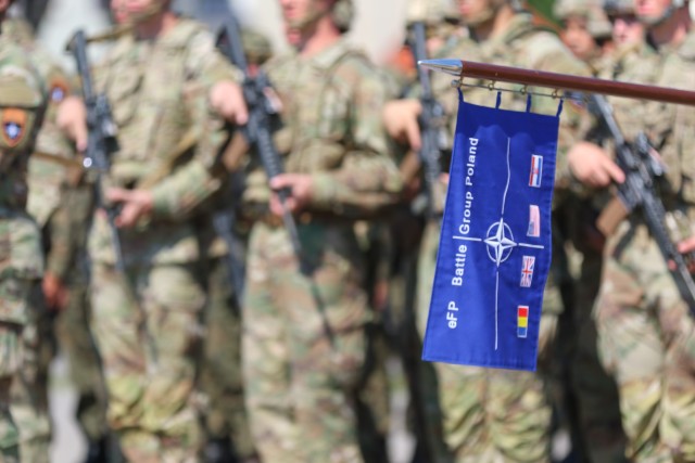
M 94 69 L 118 127 L 106 181 L 147 188 L 154 200 L 149 218 L 119 233 L 125 275 L 102 215 L 89 237 L 108 417 L 128 460 L 194 461 L 199 450 L 192 390 L 205 292 L 192 218 L 224 177 L 218 151 L 227 133 L 207 93 L 236 77 L 204 27 L 185 18 L 154 41 L 122 38 Z M 189 133 L 198 143 L 180 153 Z

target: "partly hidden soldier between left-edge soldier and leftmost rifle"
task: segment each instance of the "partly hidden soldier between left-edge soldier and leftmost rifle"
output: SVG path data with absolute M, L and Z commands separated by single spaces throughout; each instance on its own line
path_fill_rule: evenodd
M 22 381 L 15 382 L 12 391 L 22 455 L 31 462 L 48 461 L 48 368 L 58 337 L 79 394 L 77 419 L 89 440 L 88 453 L 98 459 L 105 450 L 108 433 L 105 396 L 89 333 L 86 268 L 79 260 L 86 244 L 91 195 L 88 188 L 78 185 L 80 169 L 77 162 L 71 164 L 74 150 L 55 125 L 58 105 L 70 94 L 71 86 L 65 73 L 38 46 L 28 23 L 11 17 L 3 24 L 3 33 L 33 56 L 50 97 L 36 145 L 39 153 L 30 158 L 28 167 L 27 210 L 41 229 L 47 254 L 42 285 L 47 310 L 37 313 L 35 323 L 25 329 L 25 358 L 31 368 L 24 369 Z

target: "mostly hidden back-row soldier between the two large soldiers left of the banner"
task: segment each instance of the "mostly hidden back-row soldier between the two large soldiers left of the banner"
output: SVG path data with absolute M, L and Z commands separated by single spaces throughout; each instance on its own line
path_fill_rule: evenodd
M 241 41 L 253 75 L 273 55 L 268 39 L 254 30 L 242 29 Z M 245 244 L 249 234 L 248 223 L 236 209 L 238 204 L 230 204 L 237 200 L 239 190 L 243 188 L 243 178 L 237 176 L 229 185 L 230 191 L 224 192 L 219 207 L 232 207 L 233 223 L 230 230 L 236 244 L 236 252 L 231 254 L 230 265 L 237 267 L 237 272 L 243 279 L 245 262 Z M 216 462 L 254 462 L 257 455 L 251 438 L 249 420 L 247 417 L 243 398 L 243 378 L 241 374 L 241 307 L 239 294 L 243 293 L 243 281 L 237 281 L 230 275 L 230 268 L 226 262 L 229 253 L 227 246 L 208 224 L 203 233 L 203 241 L 211 241 L 208 250 L 207 309 L 205 312 L 205 344 L 203 349 L 203 364 L 200 372 L 200 389 L 206 396 L 206 407 L 203 411 L 203 423 L 207 443 L 205 460 Z M 205 236 L 206 235 L 206 236 Z M 232 454 L 235 456 L 232 456 Z M 232 460 L 236 458 L 238 460 Z

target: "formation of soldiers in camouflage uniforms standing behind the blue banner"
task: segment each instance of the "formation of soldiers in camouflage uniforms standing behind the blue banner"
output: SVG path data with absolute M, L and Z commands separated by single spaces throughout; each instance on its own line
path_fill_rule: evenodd
M 539 372 L 425 363 L 447 176 L 424 207 L 414 65 L 401 50 L 378 68 L 351 44 L 351 0 L 280 0 L 292 51 L 271 56 L 245 31 L 248 69 L 169 0 L 112 0 L 99 40 L 113 44 L 90 69 L 116 129 L 108 171 L 85 168 L 85 76 L 55 65 L 11 4 L 0 0 L 0 461 L 48 462 L 60 347 L 88 462 L 387 462 L 392 358 L 413 462 L 549 462 L 559 427 L 567 461 L 695 462 L 695 326 L 640 214 L 612 207 L 624 173 L 585 105 L 570 100 L 560 121 Z M 422 1 L 410 21 L 432 57 L 695 90 L 687 7 L 557 0 L 559 34 L 521 0 Z M 270 179 L 248 92 L 264 75 L 283 166 Z M 457 99 L 432 78 L 445 172 Z M 465 83 L 468 102 L 495 104 L 489 82 Z M 535 90 L 501 105 L 525 111 Z M 692 253 L 695 111 L 609 101 L 628 140 L 648 136 L 672 240 Z M 554 115 L 557 101 L 535 97 L 532 111 Z

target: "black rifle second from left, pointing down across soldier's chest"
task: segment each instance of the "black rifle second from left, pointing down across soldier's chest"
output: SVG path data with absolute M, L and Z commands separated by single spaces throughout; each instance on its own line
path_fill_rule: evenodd
M 219 50 L 227 59 L 243 72 L 243 98 L 249 106 L 249 121 L 242 127 L 243 134 L 250 144 L 256 147 L 261 163 L 268 180 L 282 173 L 282 159 L 273 142 L 270 130 L 274 118 L 277 117 L 276 104 L 268 98 L 270 81 L 263 70 L 252 76 L 247 63 L 247 56 L 241 43 L 241 31 L 237 20 L 229 15 L 217 39 Z M 287 200 L 292 192 L 290 189 L 276 191 L 282 206 L 282 221 L 290 234 L 292 248 L 295 256 L 302 262 L 302 246 L 294 217 L 287 207 Z

